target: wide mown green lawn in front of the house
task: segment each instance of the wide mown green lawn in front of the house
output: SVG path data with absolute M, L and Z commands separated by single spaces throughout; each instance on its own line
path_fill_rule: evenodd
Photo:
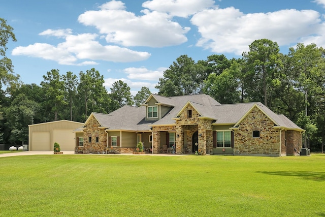
M 0 158 L 0 216 L 325 216 L 325 155 Z

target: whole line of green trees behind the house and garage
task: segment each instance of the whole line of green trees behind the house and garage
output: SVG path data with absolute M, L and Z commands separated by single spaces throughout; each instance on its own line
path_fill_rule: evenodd
M 84 122 L 91 112 L 110 113 L 124 105 L 140 106 L 151 94 L 142 87 L 131 95 L 126 83 L 114 82 L 111 92 L 94 68 L 78 75 L 51 70 L 40 85 L 24 84 L 6 57 L 13 28 L 0 18 L 0 143 L 28 141 L 28 125 L 68 119 Z M 314 150 L 325 143 L 325 51 L 316 44 L 297 44 L 287 54 L 276 42 L 255 40 L 241 58 L 210 55 L 194 61 L 179 56 L 164 71 L 156 88 L 166 97 L 207 94 L 221 104 L 262 102 L 306 130 L 305 142 Z

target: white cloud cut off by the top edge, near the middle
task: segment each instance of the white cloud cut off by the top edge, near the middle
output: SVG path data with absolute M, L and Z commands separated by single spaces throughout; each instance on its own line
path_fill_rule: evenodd
M 144 2 L 142 7 L 186 18 L 213 5 L 213 0 L 152 0 Z

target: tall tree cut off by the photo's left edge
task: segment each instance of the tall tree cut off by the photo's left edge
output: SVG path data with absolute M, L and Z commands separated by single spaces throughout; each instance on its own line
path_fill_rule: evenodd
M 17 82 L 19 75 L 14 75 L 14 66 L 10 58 L 6 57 L 6 50 L 8 41 L 16 42 L 15 34 L 13 33 L 14 28 L 7 24 L 7 20 L 0 18 L 0 88 L 3 84 L 11 84 Z

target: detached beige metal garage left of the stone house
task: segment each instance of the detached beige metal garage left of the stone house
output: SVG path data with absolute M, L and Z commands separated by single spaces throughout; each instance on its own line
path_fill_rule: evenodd
M 71 120 L 58 120 L 28 125 L 28 144 L 30 151 L 51 151 L 54 143 L 60 145 L 62 151 L 73 151 L 76 147 L 75 132 L 84 123 Z

